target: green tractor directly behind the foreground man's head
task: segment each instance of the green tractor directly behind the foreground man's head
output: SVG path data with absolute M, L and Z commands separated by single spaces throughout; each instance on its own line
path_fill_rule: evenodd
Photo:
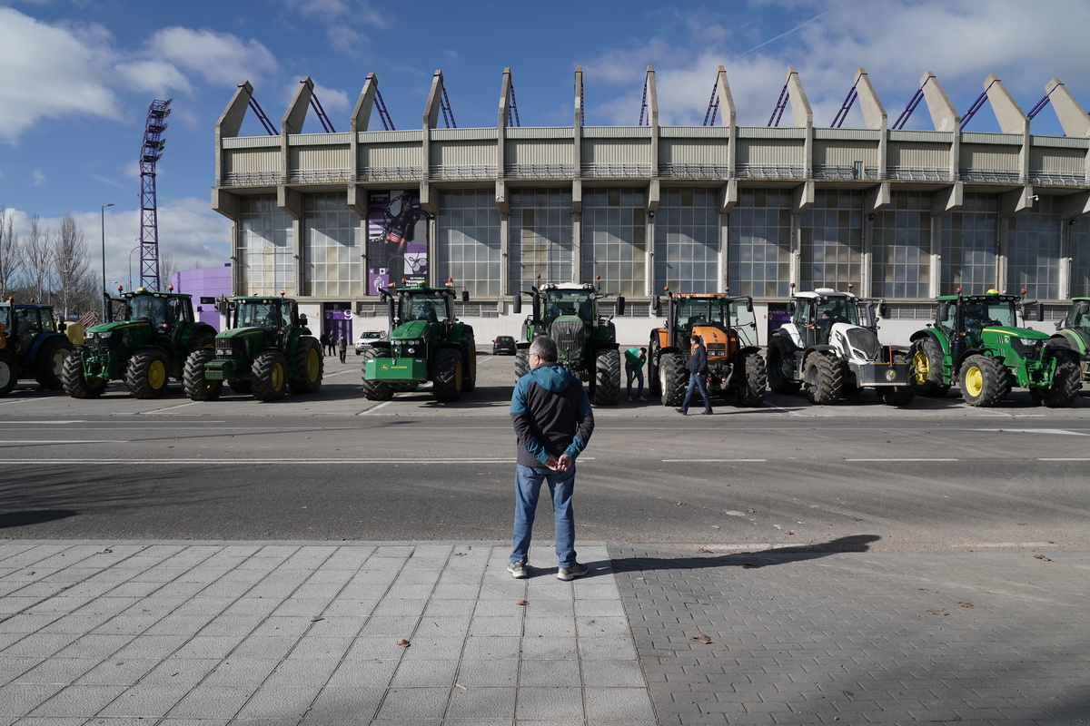
M 620 403 L 620 348 L 611 318 L 598 316 L 601 278 L 591 283 L 542 283 L 514 296 L 512 309 L 522 312 L 522 295 L 533 299 L 533 311 L 522 324 L 522 342 L 514 353 L 514 378 L 530 372 L 530 343 L 548 335 L 556 343 L 557 362 L 588 384 L 591 403 Z M 617 297 L 617 315 L 625 315 L 625 297 Z

